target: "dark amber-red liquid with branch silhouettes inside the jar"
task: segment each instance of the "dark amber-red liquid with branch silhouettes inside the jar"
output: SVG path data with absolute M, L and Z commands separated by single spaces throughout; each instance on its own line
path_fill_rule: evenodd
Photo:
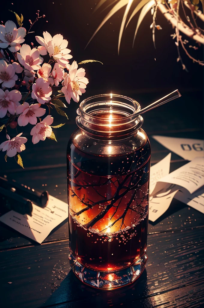
M 149 143 L 116 156 L 68 154 L 70 251 L 94 270 L 125 268 L 146 252 Z

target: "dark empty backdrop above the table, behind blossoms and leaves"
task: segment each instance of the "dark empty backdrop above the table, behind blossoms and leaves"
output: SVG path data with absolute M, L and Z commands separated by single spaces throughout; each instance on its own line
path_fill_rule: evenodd
M 54 3 L 53 3 L 54 2 Z M 144 18 L 132 49 L 132 41 L 139 14 L 130 22 L 121 42 L 120 55 L 117 53 L 118 35 L 120 23 L 124 14 L 124 8 L 116 13 L 96 34 L 94 39 L 84 50 L 92 34 L 108 13 L 111 7 L 103 5 L 93 12 L 99 0 L 36 0 L 4 2 L 4 10 L 1 10 L 0 18 L 5 23 L 15 16 L 9 10 L 13 10 L 24 16 L 23 26 L 28 29 L 29 19 L 35 19 L 37 10 L 45 14 L 34 26 L 35 34 L 26 37 L 28 41 L 36 43 L 34 36 L 42 36 L 43 31 L 48 31 L 52 36 L 60 33 L 69 41 L 73 59 L 78 62 L 85 59 L 96 59 L 104 63 L 89 63 L 84 65 L 90 84 L 88 91 L 116 91 L 126 94 L 127 91 L 138 92 L 143 89 L 155 91 L 157 89 L 194 89 L 200 90 L 203 84 L 203 67 L 193 64 L 192 60 L 182 54 L 183 61 L 189 73 L 183 71 L 181 64 L 176 62 L 178 57 L 174 41 L 170 37 L 174 33 L 172 26 L 158 11 L 157 24 L 163 30 L 156 30 L 156 50 L 152 42 L 152 16 L 149 12 Z M 112 0 L 107 1 L 107 5 Z M 48 22 L 46 22 L 48 21 Z M 183 36 L 184 38 L 184 36 Z M 186 38 L 186 37 L 185 37 Z M 38 44 L 37 44 L 38 45 Z M 196 45 L 193 41 L 191 45 Z M 196 58 L 202 59 L 202 47 L 194 51 L 189 49 Z M 156 59 L 156 61 L 155 61 Z

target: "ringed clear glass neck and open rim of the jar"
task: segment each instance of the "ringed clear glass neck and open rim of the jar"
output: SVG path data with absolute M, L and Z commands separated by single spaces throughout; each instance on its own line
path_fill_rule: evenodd
M 135 115 L 140 105 L 122 95 L 102 94 L 80 103 L 76 122 L 80 129 L 96 139 L 124 139 L 133 135 L 143 124 Z

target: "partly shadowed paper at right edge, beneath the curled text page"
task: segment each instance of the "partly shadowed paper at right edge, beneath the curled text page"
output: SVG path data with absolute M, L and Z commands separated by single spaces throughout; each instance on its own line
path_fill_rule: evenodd
M 175 199 L 204 214 L 204 187 L 201 187 L 193 194 L 190 194 L 185 188 L 180 188 L 175 195 Z

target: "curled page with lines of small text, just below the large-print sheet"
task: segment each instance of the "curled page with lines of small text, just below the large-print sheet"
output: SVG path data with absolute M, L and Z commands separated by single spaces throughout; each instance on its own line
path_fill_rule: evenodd
M 204 157 L 196 157 L 181 168 L 163 177 L 161 182 L 186 188 L 191 194 L 204 185 Z

